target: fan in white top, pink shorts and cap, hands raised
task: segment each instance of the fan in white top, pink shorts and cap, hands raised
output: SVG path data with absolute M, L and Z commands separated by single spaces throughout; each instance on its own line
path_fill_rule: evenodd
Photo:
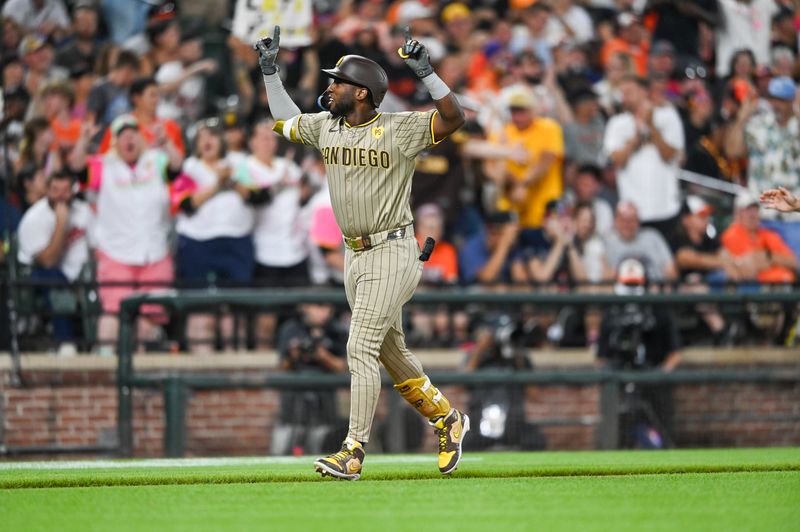
M 87 156 L 92 128 L 84 128 L 72 152 L 73 170 L 85 169 L 88 188 L 97 196 L 97 280 L 105 314 L 98 325 L 101 341 L 116 337 L 120 303 L 135 286 L 157 290 L 173 280 L 168 237 L 169 186 L 179 174 L 183 156 L 160 129 L 148 148 L 136 118 L 123 114 L 111 123 L 113 149 Z M 116 283 L 116 284 L 114 284 Z M 105 285 L 105 286 L 103 286 Z M 143 315 L 153 312 L 143 307 Z M 141 322 L 140 338 L 153 339 L 157 329 Z

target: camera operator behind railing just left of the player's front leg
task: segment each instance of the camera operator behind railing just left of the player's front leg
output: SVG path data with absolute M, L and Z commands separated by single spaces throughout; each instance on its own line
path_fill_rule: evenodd
M 333 307 L 300 306 L 296 318 L 278 331 L 281 369 L 297 373 L 347 371 L 347 330 L 334 316 Z M 272 434 L 272 454 L 324 451 L 323 441 L 339 418 L 336 390 L 287 390 L 281 394 L 281 411 Z M 335 446 L 335 444 L 334 444 Z

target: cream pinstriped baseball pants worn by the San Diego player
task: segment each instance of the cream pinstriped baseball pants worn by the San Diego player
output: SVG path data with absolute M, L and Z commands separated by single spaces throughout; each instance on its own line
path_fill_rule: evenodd
M 345 292 L 352 310 L 347 363 L 350 367 L 348 437 L 369 441 L 381 391 L 380 364 L 395 383 L 423 376 L 422 364 L 408 350 L 402 310 L 422 275 L 413 231 L 365 251 L 346 250 Z

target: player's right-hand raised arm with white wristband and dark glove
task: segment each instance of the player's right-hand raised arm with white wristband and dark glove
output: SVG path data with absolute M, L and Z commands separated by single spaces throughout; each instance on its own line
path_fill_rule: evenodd
M 439 111 L 439 116 L 433 120 L 434 140 L 438 142 L 464 125 L 464 110 L 458 103 L 456 95 L 433 71 L 425 45 L 411 38 L 408 27 L 406 27 L 405 37 L 406 43 L 397 50 L 397 53 L 419 76 L 431 93 L 436 110 Z

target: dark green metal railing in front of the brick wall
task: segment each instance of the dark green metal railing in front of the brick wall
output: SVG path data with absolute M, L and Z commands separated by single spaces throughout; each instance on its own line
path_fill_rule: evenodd
M 229 305 L 251 310 L 271 308 L 299 303 L 330 303 L 345 305 L 341 290 L 279 290 L 259 292 L 255 290 L 207 290 L 168 291 L 163 294 L 140 294 L 122 303 L 120 310 L 120 332 L 118 339 L 118 437 L 119 452 L 122 456 L 133 453 L 133 390 L 136 388 L 160 389 L 164 393 L 165 405 L 165 449 L 169 456 L 181 456 L 185 448 L 185 410 L 187 391 L 196 389 L 301 389 L 312 387 L 341 388 L 349 385 L 345 375 L 298 375 L 289 373 L 263 374 L 248 377 L 224 375 L 196 375 L 191 373 L 170 373 L 150 375 L 134 370 L 133 356 L 136 351 L 135 330 L 139 309 L 142 305 L 163 306 L 170 313 L 190 313 L 192 311 Z M 564 305 L 609 305 L 609 304 L 653 304 L 682 305 L 698 303 L 718 303 L 744 305 L 747 303 L 786 303 L 800 302 L 800 291 L 771 293 L 666 293 L 621 296 L 616 294 L 584 293 L 533 293 L 495 292 L 491 290 L 441 290 L 420 292 L 412 299 L 419 304 L 468 305 L 514 307 L 519 305 L 564 306 Z M 548 371 L 538 373 L 452 373 L 431 372 L 432 379 L 441 385 L 469 384 L 520 384 L 520 385 L 580 385 L 598 384 L 601 386 L 601 421 L 598 444 L 601 448 L 615 448 L 617 443 L 616 413 L 618 411 L 617 390 L 622 383 L 720 383 L 720 382 L 800 382 L 800 371 L 783 369 L 747 370 L 693 370 L 664 373 L 661 371 Z M 391 385 L 389 380 L 384 386 Z M 390 408 L 398 408 L 395 394 Z M 402 440 L 401 416 L 389 416 L 388 450 L 399 452 L 403 449 L 393 444 Z M 398 420 L 391 423 L 391 420 Z

